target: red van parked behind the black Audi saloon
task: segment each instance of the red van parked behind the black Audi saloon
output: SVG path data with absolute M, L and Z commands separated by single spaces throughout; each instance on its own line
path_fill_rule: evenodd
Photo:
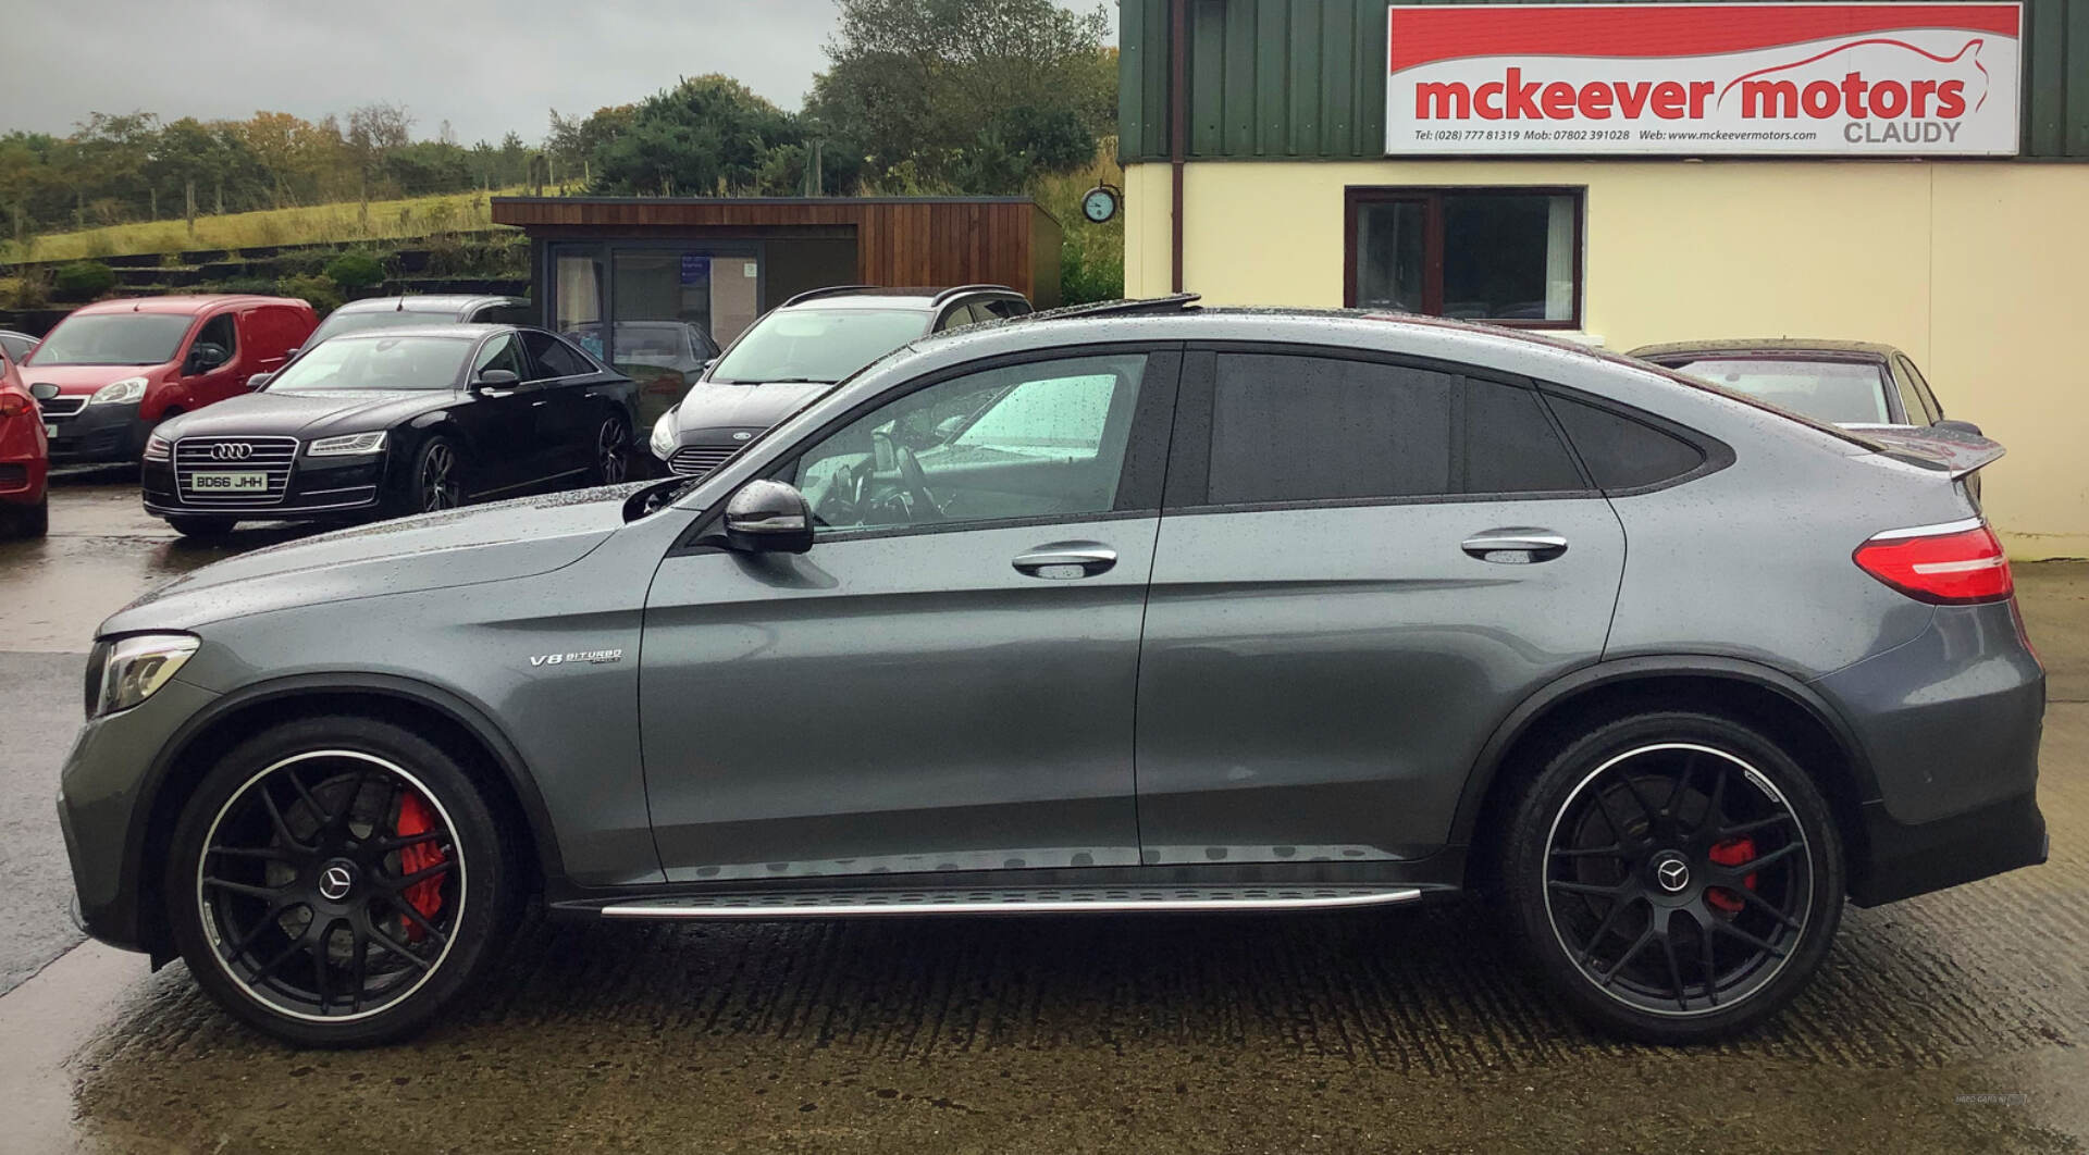
M 96 301 L 58 322 L 21 376 L 44 409 L 52 462 L 136 462 L 152 426 L 244 395 L 318 324 L 290 297 Z

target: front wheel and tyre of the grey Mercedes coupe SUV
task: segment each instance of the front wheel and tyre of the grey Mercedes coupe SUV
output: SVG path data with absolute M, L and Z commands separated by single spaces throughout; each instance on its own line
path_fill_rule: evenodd
M 391 723 L 322 716 L 205 775 L 165 894 L 188 971 L 232 1017 L 292 1046 L 370 1046 L 474 990 L 518 915 L 518 877 L 449 754 Z

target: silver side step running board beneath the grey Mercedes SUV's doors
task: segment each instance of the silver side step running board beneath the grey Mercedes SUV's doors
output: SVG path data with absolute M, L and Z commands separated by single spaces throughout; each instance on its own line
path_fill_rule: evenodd
M 604 906 L 606 919 L 848 919 L 863 915 L 1067 915 L 1126 911 L 1327 911 L 1421 898 L 1418 888 L 1161 886 L 1038 890 L 790 890 L 650 898 Z

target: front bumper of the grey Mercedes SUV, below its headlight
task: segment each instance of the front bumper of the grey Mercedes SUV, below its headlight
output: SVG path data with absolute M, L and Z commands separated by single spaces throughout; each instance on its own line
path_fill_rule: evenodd
M 163 950 L 159 879 L 146 877 L 155 767 L 217 696 L 173 679 L 144 704 L 88 721 L 58 771 L 58 829 L 73 865 L 77 921 L 123 950 Z

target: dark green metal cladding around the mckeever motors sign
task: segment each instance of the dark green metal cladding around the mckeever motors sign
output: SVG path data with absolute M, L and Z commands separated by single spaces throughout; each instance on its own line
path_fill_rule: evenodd
M 1126 163 L 1168 159 L 1168 2 L 1120 0 Z M 1385 8 L 1189 0 L 1191 159 L 1383 157 Z M 2089 0 L 2024 0 L 2022 159 L 2089 159 Z

